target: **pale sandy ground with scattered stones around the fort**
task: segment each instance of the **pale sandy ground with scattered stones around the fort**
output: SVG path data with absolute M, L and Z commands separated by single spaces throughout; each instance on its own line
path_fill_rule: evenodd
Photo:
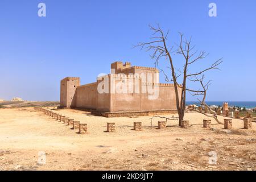
M 233 129 L 225 130 L 212 120 L 212 129 L 204 129 L 203 119 L 210 118 L 188 113 L 188 129 L 168 121 L 158 130 L 164 119 L 154 118 L 151 128 L 151 117 L 55 111 L 87 123 L 88 133 L 78 134 L 32 107 L 0 109 L 0 170 L 256 170 L 256 123 L 245 130 L 242 120 L 233 119 Z M 133 130 L 136 121 L 143 131 Z M 114 133 L 105 132 L 107 122 L 115 122 Z M 44 158 L 40 151 L 46 164 L 38 163 Z M 209 164 L 210 151 L 216 152 L 216 164 Z

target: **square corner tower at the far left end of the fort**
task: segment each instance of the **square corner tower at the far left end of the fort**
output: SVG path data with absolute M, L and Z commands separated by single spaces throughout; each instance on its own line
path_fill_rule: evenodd
M 79 77 L 66 77 L 60 81 L 60 107 L 76 106 L 76 88 L 79 85 Z

